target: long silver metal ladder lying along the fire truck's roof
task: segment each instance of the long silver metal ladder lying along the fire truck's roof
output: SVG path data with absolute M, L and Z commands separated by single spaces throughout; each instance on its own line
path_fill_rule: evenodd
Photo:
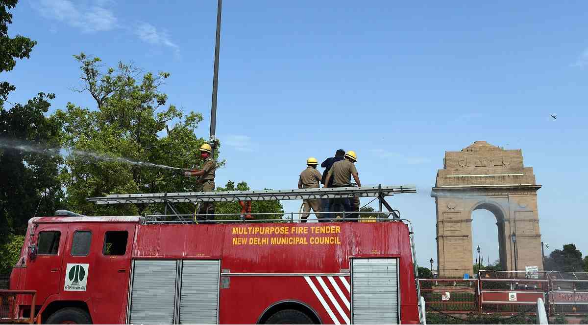
M 228 192 L 184 192 L 184 193 L 145 193 L 145 194 L 111 194 L 101 198 L 88 198 L 96 204 L 132 204 L 132 203 L 179 203 L 179 202 L 233 202 L 265 201 L 283 199 L 323 199 L 352 197 L 387 197 L 400 193 L 415 193 L 415 185 L 334 187 L 334 188 L 296 188 L 263 189 L 257 191 Z

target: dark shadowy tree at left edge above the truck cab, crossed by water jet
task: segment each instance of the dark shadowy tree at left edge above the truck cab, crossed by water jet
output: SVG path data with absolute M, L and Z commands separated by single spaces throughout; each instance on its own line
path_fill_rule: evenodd
M 59 146 L 61 125 L 44 115 L 54 97 L 39 93 L 25 105 L 0 110 L 0 141 L 24 141 L 37 150 L 0 148 L 0 243 L 6 233 L 24 233 L 35 212 L 38 216 L 52 214 L 60 206 L 64 194 L 58 164 L 62 157 L 47 147 Z

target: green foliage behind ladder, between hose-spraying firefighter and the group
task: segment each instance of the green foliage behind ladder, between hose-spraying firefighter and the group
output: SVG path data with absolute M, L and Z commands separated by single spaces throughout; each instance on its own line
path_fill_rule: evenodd
M 264 188 L 269 189 L 269 188 Z M 247 182 L 239 182 L 235 187 L 235 182 L 228 181 L 225 187 L 216 187 L 216 191 L 249 191 L 249 185 Z M 284 213 L 284 208 L 280 201 L 269 200 L 269 201 L 253 201 L 251 203 L 251 212 L 255 213 L 273 213 L 270 215 L 253 215 L 255 219 L 281 219 Z M 240 214 L 241 206 L 239 202 L 221 202 L 215 206 L 215 214 Z M 238 215 L 235 216 L 216 216 L 218 220 L 230 220 L 239 219 Z

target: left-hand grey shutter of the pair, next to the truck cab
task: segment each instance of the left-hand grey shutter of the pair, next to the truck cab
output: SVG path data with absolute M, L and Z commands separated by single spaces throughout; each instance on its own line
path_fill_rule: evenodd
M 131 324 L 173 324 L 176 260 L 135 260 Z

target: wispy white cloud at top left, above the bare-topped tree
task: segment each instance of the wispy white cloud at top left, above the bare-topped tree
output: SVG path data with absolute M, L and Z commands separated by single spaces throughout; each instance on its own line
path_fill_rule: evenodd
M 83 6 L 69 0 L 40 0 L 33 8 L 45 18 L 93 33 L 111 31 L 116 27 L 116 17 L 111 10 L 103 7 L 105 4 L 108 2 Z

